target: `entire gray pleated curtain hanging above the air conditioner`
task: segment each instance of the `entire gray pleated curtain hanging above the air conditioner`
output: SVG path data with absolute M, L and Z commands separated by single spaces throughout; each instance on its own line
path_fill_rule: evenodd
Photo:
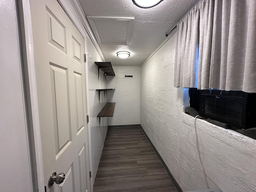
M 201 0 L 177 28 L 174 86 L 256 92 L 256 0 Z

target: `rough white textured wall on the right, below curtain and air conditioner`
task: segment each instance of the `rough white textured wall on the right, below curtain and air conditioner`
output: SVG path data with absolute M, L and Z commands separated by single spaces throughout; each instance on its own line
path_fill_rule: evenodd
M 188 92 L 174 88 L 176 34 L 141 67 L 141 125 L 183 191 L 206 189 Z M 210 188 L 256 192 L 256 140 L 196 120 Z

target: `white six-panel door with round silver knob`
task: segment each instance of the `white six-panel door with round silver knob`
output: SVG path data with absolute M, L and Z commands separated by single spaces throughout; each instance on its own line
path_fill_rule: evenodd
M 30 4 L 44 184 L 47 192 L 89 192 L 84 38 L 56 0 Z M 48 186 L 53 172 L 65 179 Z

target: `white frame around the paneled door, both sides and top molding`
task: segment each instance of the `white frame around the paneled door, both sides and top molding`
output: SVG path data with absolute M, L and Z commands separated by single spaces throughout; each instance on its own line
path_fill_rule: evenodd
M 86 113 L 90 116 L 89 112 L 89 89 L 88 89 L 88 65 L 87 65 L 87 44 L 86 40 L 90 40 L 103 61 L 106 61 L 100 46 L 98 45 L 90 25 L 84 15 L 82 7 L 78 0 L 57 0 L 76 26 L 78 31 L 82 34 L 84 38 L 84 46 L 86 54 L 85 62 L 85 79 L 86 79 Z M 24 38 L 24 45 L 22 46 L 23 57 L 26 60 L 26 67 L 24 68 L 24 74 L 28 91 L 26 92 L 26 100 L 29 103 L 28 107 L 28 119 L 30 122 L 30 153 L 32 155 L 32 169 L 34 176 L 34 191 L 45 192 L 44 185 L 44 169 L 43 169 L 43 158 L 42 158 L 42 144 L 41 144 L 41 134 L 40 134 L 40 122 L 38 115 L 38 97 L 36 88 L 36 72 L 34 65 L 34 46 L 33 46 L 33 34 L 32 34 L 32 17 L 30 11 L 30 0 L 22 0 L 22 3 L 18 4 L 19 12 L 22 12 L 22 18 L 20 18 L 20 23 L 22 25 L 22 38 Z M 88 126 L 88 154 L 89 154 L 89 168 L 92 169 L 92 155 L 91 155 L 91 136 L 90 136 L 90 122 Z M 93 181 L 90 179 L 90 190 L 93 192 Z

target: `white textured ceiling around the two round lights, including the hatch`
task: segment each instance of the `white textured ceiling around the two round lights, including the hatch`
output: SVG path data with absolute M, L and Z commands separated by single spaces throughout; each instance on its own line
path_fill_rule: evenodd
M 140 66 L 198 0 L 164 0 L 148 9 L 132 0 L 79 2 L 106 61 L 113 66 Z M 118 51 L 128 51 L 130 57 L 118 58 Z

